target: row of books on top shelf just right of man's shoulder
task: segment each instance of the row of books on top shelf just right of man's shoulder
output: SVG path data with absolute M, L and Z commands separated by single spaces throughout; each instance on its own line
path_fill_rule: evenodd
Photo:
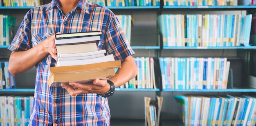
M 128 6 L 159 6 L 160 0 L 92 0 L 101 6 L 128 7 Z

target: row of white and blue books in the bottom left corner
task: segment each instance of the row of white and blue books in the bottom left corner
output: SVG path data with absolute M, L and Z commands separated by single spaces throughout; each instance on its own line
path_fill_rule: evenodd
M 0 126 L 28 126 L 33 96 L 0 96 Z

